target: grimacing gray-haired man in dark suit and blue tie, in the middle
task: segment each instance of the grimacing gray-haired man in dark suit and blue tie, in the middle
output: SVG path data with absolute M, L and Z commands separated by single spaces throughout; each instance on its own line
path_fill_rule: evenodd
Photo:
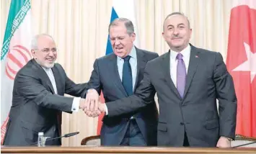
M 113 53 L 95 60 L 87 100 L 94 99 L 94 96 L 98 99 L 101 91 L 106 103 L 132 95 L 143 78 L 146 63 L 158 57 L 156 53 L 133 45 L 136 35 L 133 23 L 128 19 L 115 19 L 110 23 L 109 34 Z M 91 95 L 93 89 L 97 91 L 96 95 Z M 104 117 L 101 145 L 156 145 L 157 119 L 155 102 L 138 112 Z

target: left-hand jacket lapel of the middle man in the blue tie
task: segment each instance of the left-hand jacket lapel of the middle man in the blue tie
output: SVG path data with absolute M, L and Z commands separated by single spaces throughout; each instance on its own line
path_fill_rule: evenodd
M 112 56 L 110 57 L 110 63 L 109 63 L 109 68 L 110 68 L 110 76 L 111 80 L 115 83 L 115 85 L 122 91 L 122 93 L 125 96 L 128 96 L 125 88 L 123 87 L 123 83 L 120 79 L 119 73 L 118 73 L 118 64 L 117 64 L 117 57 L 115 54 L 112 53 Z

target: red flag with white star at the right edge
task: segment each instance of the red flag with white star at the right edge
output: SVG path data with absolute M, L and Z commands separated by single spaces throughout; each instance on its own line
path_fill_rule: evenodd
M 244 2 L 231 9 L 226 65 L 237 94 L 236 135 L 256 138 L 256 1 Z

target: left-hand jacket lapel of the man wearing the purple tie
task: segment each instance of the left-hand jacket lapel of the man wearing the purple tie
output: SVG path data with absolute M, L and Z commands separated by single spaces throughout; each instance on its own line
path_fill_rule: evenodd
M 164 79 L 167 81 L 167 84 L 169 85 L 169 87 L 172 89 L 172 91 L 177 95 L 177 97 L 179 97 L 180 99 L 182 99 L 180 97 L 179 92 L 177 91 L 175 84 L 172 81 L 171 78 L 171 73 L 170 73 L 170 63 L 169 63 L 169 54 L 170 52 L 166 53 L 165 56 L 163 57 L 163 61 L 162 61 L 162 68 L 163 68 L 163 72 L 164 72 Z

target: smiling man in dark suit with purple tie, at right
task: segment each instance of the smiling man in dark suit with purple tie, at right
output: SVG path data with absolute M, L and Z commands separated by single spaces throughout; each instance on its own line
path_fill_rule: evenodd
M 169 14 L 162 33 L 169 52 L 147 63 L 133 96 L 99 108 L 107 117 L 127 114 L 151 104 L 157 93 L 158 145 L 230 147 L 237 115 L 234 83 L 220 53 L 189 44 L 191 32 L 187 17 Z

